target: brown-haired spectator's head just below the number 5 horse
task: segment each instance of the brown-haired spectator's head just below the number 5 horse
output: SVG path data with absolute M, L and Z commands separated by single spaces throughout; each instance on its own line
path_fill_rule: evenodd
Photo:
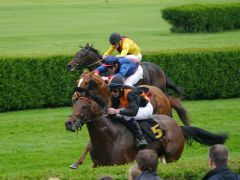
M 158 155 L 155 151 L 150 149 L 140 150 L 136 161 L 138 168 L 142 171 L 136 180 L 161 180 L 157 174 Z

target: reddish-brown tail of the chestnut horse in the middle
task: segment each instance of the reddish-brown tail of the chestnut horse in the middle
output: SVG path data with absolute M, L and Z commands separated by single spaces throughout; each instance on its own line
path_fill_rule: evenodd
M 190 126 L 187 110 L 182 106 L 180 99 L 169 96 L 170 105 L 177 112 L 184 125 Z

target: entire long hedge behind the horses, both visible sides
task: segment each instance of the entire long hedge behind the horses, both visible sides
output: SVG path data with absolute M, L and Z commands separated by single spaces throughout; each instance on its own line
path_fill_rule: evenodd
M 70 56 L 0 59 L 0 111 L 71 104 L 80 72 L 67 72 Z M 148 54 L 185 89 L 186 99 L 240 97 L 240 49 Z

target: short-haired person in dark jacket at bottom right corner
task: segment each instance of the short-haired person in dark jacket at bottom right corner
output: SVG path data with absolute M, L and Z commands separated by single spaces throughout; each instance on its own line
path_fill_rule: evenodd
M 227 163 L 227 148 L 221 144 L 212 146 L 209 149 L 209 165 L 211 170 L 203 177 L 203 180 L 240 180 L 240 176 L 232 172 Z

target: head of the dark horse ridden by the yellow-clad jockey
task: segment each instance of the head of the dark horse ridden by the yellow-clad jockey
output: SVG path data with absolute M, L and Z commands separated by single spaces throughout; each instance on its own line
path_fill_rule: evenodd
M 93 70 L 100 65 L 102 56 L 96 49 L 93 48 L 92 45 L 87 43 L 85 47 L 80 46 L 80 48 L 80 51 L 78 51 L 67 64 L 68 71 L 81 68 L 89 68 L 90 70 Z

